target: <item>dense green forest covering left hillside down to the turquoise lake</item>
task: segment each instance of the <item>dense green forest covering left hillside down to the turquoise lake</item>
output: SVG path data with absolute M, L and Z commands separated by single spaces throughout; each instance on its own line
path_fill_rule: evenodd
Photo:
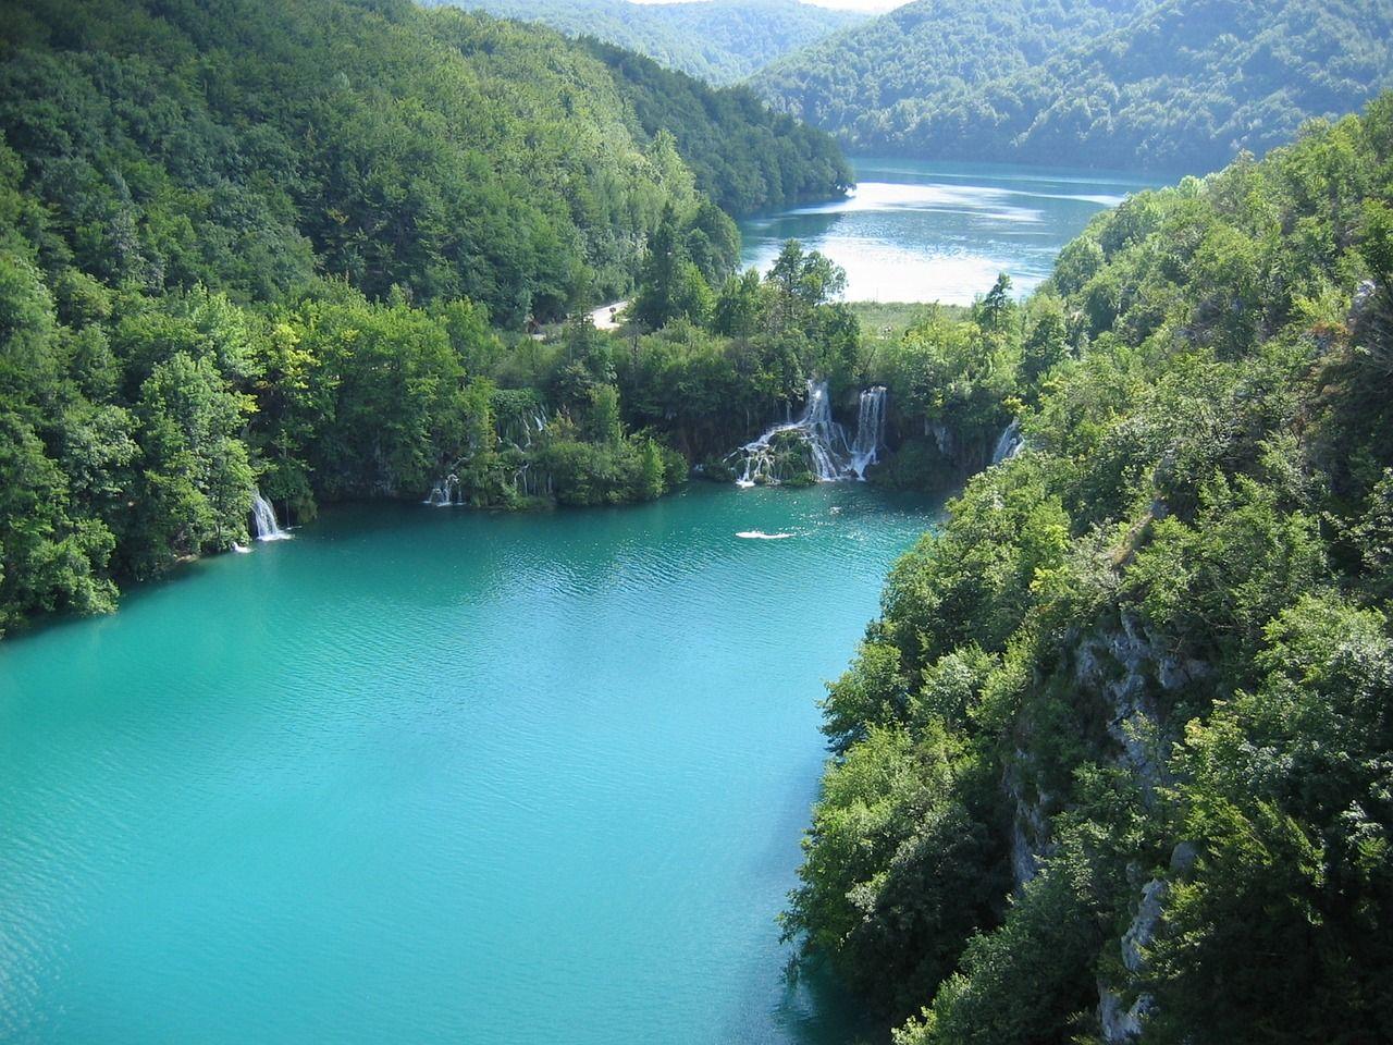
M 703 187 L 755 206 L 847 180 L 830 139 L 745 95 L 645 59 L 625 82 L 483 15 L 0 18 L 0 627 L 244 542 L 258 486 L 297 520 L 442 483 L 476 504 L 657 496 L 687 461 L 625 429 L 613 346 L 521 326 L 630 293 L 655 249 L 710 295 L 738 233 Z M 639 113 L 671 85 L 676 138 Z M 684 139 L 716 150 L 695 173 Z

